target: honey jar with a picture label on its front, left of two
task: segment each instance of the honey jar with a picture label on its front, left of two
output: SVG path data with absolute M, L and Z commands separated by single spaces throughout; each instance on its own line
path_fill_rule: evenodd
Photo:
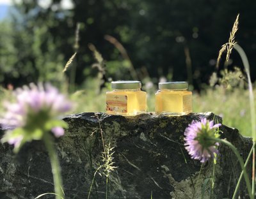
M 113 91 L 106 93 L 106 112 L 113 115 L 138 115 L 147 110 L 147 94 L 139 81 L 111 82 Z

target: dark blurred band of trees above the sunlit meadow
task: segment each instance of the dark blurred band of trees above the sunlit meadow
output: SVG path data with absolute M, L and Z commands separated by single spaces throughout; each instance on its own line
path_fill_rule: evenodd
M 106 77 L 131 79 L 131 69 L 142 80 L 148 75 L 168 80 L 189 80 L 200 89 L 214 71 L 218 50 L 228 40 L 240 13 L 237 41 L 250 63 L 256 48 L 253 18 L 256 1 L 242 0 L 73 0 L 74 8 L 63 10 L 61 0 L 42 8 L 39 1 L 22 0 L 12 24 L 2 23 L 0 81 L 22 84 L 61 80 L 61 67 L 74 54 L 77 22 L 80 22 L 76 56 L 76 84 L 97 75 L 88 43 L 106 60 Z M 17 14 L 18 13 L 18 14 Z M 115 43 L 115 38 L 129 59 Z M 253 39 L 251 39 L 253 38 Z M 6 55 L 7 54 L 7 55 Z M 236 53 L 231 59 L 240 63 Z M 4 67 L 3 67 L 4 66 Z M 72 66 L 70 66 L 72 68 Z M 70 69 L 67 71 L 69 77 Z M 252 74 L 255 68 L 252 68 Z M 54 78 L 55 77 L 55 78 Z M 252 77 L 255 80 L 255 75 Z

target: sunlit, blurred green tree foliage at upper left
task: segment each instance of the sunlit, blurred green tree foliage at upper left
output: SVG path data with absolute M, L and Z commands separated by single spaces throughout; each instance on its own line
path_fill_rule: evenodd
M 1 82 L 15 86 L 46 81 L 60 84 L 64 57 L 49 33 L 51 20 L 38 16 L 42 8 L 34 1 L 24 1 L 16 8 L 12 21 L 0 24 Z

